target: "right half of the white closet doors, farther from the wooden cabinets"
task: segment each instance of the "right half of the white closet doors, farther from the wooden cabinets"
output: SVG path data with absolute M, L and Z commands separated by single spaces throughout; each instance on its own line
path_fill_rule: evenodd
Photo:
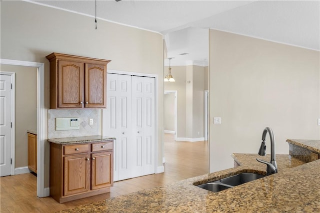
M 134 176 L 154 173 L 154 78 L 132 76 Z

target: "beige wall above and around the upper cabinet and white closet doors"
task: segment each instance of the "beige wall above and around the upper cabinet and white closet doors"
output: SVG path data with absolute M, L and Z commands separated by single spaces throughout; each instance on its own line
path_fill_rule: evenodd
M 162 35 L 25 1 L 1 3 L 1 58 L 45 63 L 45 107 L 49 106 L 49 62 L 60 52 L 111 60 L 108 69 L 158 75 L 158 166 L 162 165 L 163 43 Z M 19 15 L 17 15 L 19 14 Z M 43 124 L 46 126 L 46 123 Z M 47 137 L 47 136 L 45 136 Z M 45 187 L 48 186 L 45 144 Z

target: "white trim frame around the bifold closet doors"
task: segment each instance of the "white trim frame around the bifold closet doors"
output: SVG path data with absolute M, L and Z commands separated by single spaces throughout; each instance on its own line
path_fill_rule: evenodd
M 132 76 L 140 76 L 140 77 L 152 77 L 154 78 L 154 172 L 163 173 L 164 166 L 158 166 L 158 75 L 157 74 L 148 74 L 148 73 L 140 73 L 140 72 L 127 72 L 120 70 L 108 69 L 107 73 L 120 74 L 120 75 L 132 75 Z M 102 127 L 103 128 L 103 127 Z M 162 153 L 163 154 L 163 153 Z M 161 162 L 162 163 L 162 162 Z

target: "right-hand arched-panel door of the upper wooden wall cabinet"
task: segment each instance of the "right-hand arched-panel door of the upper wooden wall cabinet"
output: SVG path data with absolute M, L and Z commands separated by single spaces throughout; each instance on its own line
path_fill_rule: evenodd
M 85 107 L 106 107 L 106 65 L 85 64 Z

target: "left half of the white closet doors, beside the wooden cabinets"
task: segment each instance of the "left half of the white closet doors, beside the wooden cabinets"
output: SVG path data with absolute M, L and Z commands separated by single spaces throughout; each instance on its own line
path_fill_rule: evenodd
M 132 176 L 131 76 L 107 73 L 107 107 L 102 110 L 102 134 L 116 138 L 113 145 L 113 181 Z

